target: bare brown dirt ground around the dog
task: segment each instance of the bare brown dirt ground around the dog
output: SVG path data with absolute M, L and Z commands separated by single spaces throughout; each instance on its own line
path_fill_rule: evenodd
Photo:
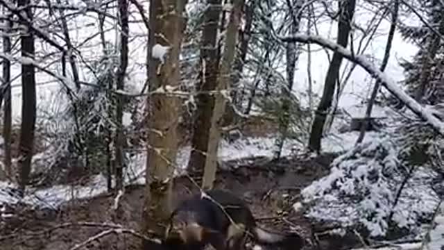
M 228 166 L 230 170 L 218 172 L 216 188 L 231 190 L 248 201 L 261 226 L 274 231 L 292 228 L 310 238 L 312 223 L 291 206 L 298 201 L 302 188 L 327 174 L 332 158 L 299 157 L 275 163 L 256 158 L 243 163 L 225 163 L 224 167 Z M 199 181 L 199 178 L 194 180 Z M 188 177 L 176 178 L 175 201 L 196 190 Z M 139 238 L 129 231 L 113 233 L 110 224 L 139 231 L 143 201 L 144 187 L 138 185 L 126 188 L 120 201 L 122 213 L 119 218 L 112 212 L 114 196 L 105 194 L 94 199 L 72 201 L 57 211 L 24 210 L 17 217 L 3 218 L 3 224 L 0 223 L 0 249 L 137 249 Z M 98 233 L 108 235 L 76 248 L 76 244 Z

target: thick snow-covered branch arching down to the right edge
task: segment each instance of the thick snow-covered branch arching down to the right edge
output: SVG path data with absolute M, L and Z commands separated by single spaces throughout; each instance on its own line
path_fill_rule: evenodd
M 425 119 L 425 121 L 433 126 L 433 128 L 435 128 L 438 133 L 444 135 L 444 123 L 441 122 L 440 119 L 436 118 L 432 113 L 430 113 L 429 110 L 425 109 L 418 102 L 416 102 L 413 98 L 409 97 L 406 92 L 401 90 L 398 85 L 396 85 L 395 81 L 393 81 L 392 78 L 381 72 L 375 65 L 373 65 L 373 63 L 370 63 L 370 61 L 367 60 L 366 56 L 354 55 L 348 49 L 345 49 L 339 44 L 336 44 L 318 35 L 296 34 L 289 36 L 280 36 L 278 38 L 282 42 L 314 43 L 327 49 L 331 49 L 332 51 L 337 51 L 341 53 L 345 58 L 361 66 L 366 70 L 366 72 L 368 72 L 368 74 L 381 81 L 382 85 L 384 85 L 384 87 L 395 97 L 398 97 L 398 99 L 404 102 L 405 105 L 413 111 L 413 113 L 416 113 L 416 115 L 418 115 L 422 119 Z

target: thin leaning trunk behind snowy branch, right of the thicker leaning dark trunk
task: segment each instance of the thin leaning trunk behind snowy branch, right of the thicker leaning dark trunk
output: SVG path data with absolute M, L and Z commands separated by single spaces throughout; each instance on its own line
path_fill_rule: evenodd
M 400 0 L 395 0 L 395 2 L 393 3 L 393 10 L 391 11 L 391 25 L 390 25 L 390 30 L 388 31 L 386 49 L 384 51 L 384 58 L 382 59 L 382 64 L 380 67 L 381 72 L 384 72 L 384 70 L 386 69 L 388 58 L 390 58 L 391 44 L 393 42 L 393 36 L 395 35 L 396 22 L 398 22 L 399 6 L 400 6 Z M 364 119 L 364 122 L 361 124 L 361 129 L 359 131 L 359 137 L 356 140 L 356 144 L 359 144 L 364 140 L 364 137 L 366 135 L 366 129 L 368 126 L 368 121 L 370 119 L 370 115 L 372 114 L 373 104 L 375 103 L 377 92 L 379 91 L 380 85 L 381 81 L 376 81 L 375 85 L 373 86 L 372 94 L 370 95 L 370 99 L 368 100 L 367 104 L 366 119 Z

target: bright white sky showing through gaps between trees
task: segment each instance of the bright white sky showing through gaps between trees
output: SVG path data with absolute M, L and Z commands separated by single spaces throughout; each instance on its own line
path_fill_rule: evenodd
M 146 6 L 147 9 L 147 6 Z M 368 25 L 368 20 L 372 17 L 373 13 L 368 12 L 362 8 L 357 9 L 357 15 L 355 16 L 355 22 L 359 26 L 366 27 Z M 414 22 L 413 19 L 404 19 L 408 22 Z M 86 15 L 85 17 L 78 18 L 76 22 L 71 22 L 71 39 L 74 41 L 81 42 L 87 40 L 89 36 L 96 33 L 96 16 L 93 14 Z M 108 20 L 109 27 L 116 25 L 112 21 Z M 335 39 L 336 36 L 336 23 L 321 22 L 318 24 L 320 34 L 323 37 Z M 379 26 L 379 35 L 373 38 L 373 42 L 370 43 L 368 49 L 364 52 L 365 54 L 375 56 L 377 60 L 382 60 L 384 56 L 384 49 L 386 44 L 386 34 L 388 33 L 389 22 L 383 21 Z M 304 31 L 305 32 L 305 31 Z M 130 44 L 130 65 L 128 66 L 128 78 L 127 84 L 136 87 L 136 90 L 140 90 L 145 81 L 144 72 L 144 62 L 146 58 L 146 29 L 143 24 L 130 24 L 131 36 L 137 37 Z M 117 41 L 117 36 L 113 32 L 109 32 L 106 35 L 107 40 L 110 42 Z M 359 32 L 355 35 L 355 44 L 359 41 Z M 38 49 L 46 48 L 37 44 Z M 83 49 L 81 49 L 85 58 L 98 58 L 101 54 L 101 49 L 99 45 L 99 37 L 96 36 L 94 39 L 85 43 Z M 305 49 L 307 47 L 305 46 Z M 325 81 L 325 74 L 327 72 L 329 63 L 327 60 L 326 53 L 321 47 L 312 44 L 311 45 L 311 77 L 313 80 L 313 91 L 321 95 L 323 91 L 323 82 Z M 400 37 L 400 34 L 395 33 L 393 40 L 393 47 L 391 49 L 391 57 L 388 61 L 388 66 L 386 67 L 386 73 L 396 81 L 401 81 L 404 77 L 402 68 L 398 64 L 398 60 L 401 58 L 411 58 L 411 56 L 416 53 L 417 47 L 413 44 L 404 42 Z M 330 52 L 330 56 L 332 53 Z M 307 92 L 308 81 L 307 81 L 307 53 L 302 53 L 299 57 L 297 64 L 297 71 L 295 74 L 293 92 L 300 97 L 301 103 L 307 104 L 307 98 L 302 97 L 300 92 Z M 342 69 L 344 67 L 350 67 L 347 60 L 343 60 Z M 284 68 L 282 69 L 284 72 Z M 12 77 L 19 75 L 19 65 L 15 65 L 12 69 Z M 91 80 L 91 76 L 84 78 L 85 81 Z M 56 108 L 58 106 L 58 101 L 62 95 L 58 94 L 60 92 L 60 83 L 54 82 L 53 78 L 47 76 L 44 73 L 37 74 L 37 107 L 42 110 L 48 110 L 49 108 Z M 339 106 L 346 108 L 348 106 L 353 106 L 362 101 L 363 97 L 368 97 L 370 95 L 371 88 L 373 87 L 373 81 L 371 81 L 370 76 L 361 69 L 360 67 L 355 67 L 350 80 L 345 86 L 344 94 L 340 99 Z M 12 114 L 14 119 L 19 119 L 21 116 L 21 84 L 20 79 L 17 78 L 13 81 L 12 85 Z M 51 105 L 55 104 L 55 105 Z

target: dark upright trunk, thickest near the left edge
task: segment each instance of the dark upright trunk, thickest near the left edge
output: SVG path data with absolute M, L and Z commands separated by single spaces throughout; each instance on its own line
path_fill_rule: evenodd
M 19 8 L 26 14 L 27 19 L 33 19 L 31 2 L 29 0 L 18 0 Z M 26 26 L 26 23 L 20 19 L 20 23 Z M 34 37 L 33 32 L 20 35 L 20 44 L 22 48 L 22 56 L 34 58 Z M 22 126 L 20 127 L 19 141 L 19 157 L 17 160 L 19 167 L 19 186 L 24 192 L 28 183 L 29 174 L 31 173 L 31 160 L 33 158 L 34 149 L 34 132 L 35 132 L 35 67 L 32 64 L 22 64 Z

